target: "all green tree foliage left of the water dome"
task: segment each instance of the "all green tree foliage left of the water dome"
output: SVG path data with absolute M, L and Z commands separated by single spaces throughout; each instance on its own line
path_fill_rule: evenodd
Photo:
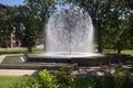
M 31 48 L 54 10 L 55 2 L 54 0 L 24 0 L 24 6 L 7 7 L 0 11 L 0 37 L 8 38 L 16 28 L 17 40 L 32 52 Z

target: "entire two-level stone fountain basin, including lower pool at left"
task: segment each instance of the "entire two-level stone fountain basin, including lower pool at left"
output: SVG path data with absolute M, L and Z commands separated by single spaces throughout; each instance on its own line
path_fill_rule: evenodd
M 40 54 L 8 55 L 0 63 L 0 69 L 58 69 L 60 67 L 101 66 L 133 62 L 133 57 L 127 55 L 98 55 L 84 57 L 65 56 L 65 58 L 58 55 L 54 55 L 55 57 L 40 56 Z M 24 58 L 25 62 L 21 58 Z

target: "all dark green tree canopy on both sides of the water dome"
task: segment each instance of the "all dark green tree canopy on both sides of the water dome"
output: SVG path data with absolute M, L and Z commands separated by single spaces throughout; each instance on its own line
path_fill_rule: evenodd
M 103 48 L 117 50 L 117 53 L 133 48 L 133 0 L 24 0 L 24 6 L 0 11 L 0 36 L 6 40 L 8 32 L 16 28 L 17 38 L 31 52 L 55 6 L 70 2 L 91 15 L 99 53 Z

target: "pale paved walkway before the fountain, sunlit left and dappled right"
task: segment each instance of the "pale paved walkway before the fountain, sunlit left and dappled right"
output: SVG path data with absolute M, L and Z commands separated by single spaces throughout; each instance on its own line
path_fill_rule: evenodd
M 122 68 L 129 67 L 132 66 L 123 66 Z M 73 74 L 79 76 L 103 76 L 105 74 L 114 75 L 116 68 L 119 68 L 119 66 L 116 65 L 79 67 L 78 70 L 73 72 Z M 0 69 L 0 76 L 31 76 L 34 75 L 37 72 L 37 69 Z

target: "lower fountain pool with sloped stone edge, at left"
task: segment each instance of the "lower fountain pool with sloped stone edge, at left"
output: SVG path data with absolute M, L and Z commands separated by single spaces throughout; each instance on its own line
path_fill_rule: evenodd
M 7 55 L 0 63 L 0 69 L 59 69 L 61 67 L 74 68 L 76 64 L 28 62 L 24 55 Z

